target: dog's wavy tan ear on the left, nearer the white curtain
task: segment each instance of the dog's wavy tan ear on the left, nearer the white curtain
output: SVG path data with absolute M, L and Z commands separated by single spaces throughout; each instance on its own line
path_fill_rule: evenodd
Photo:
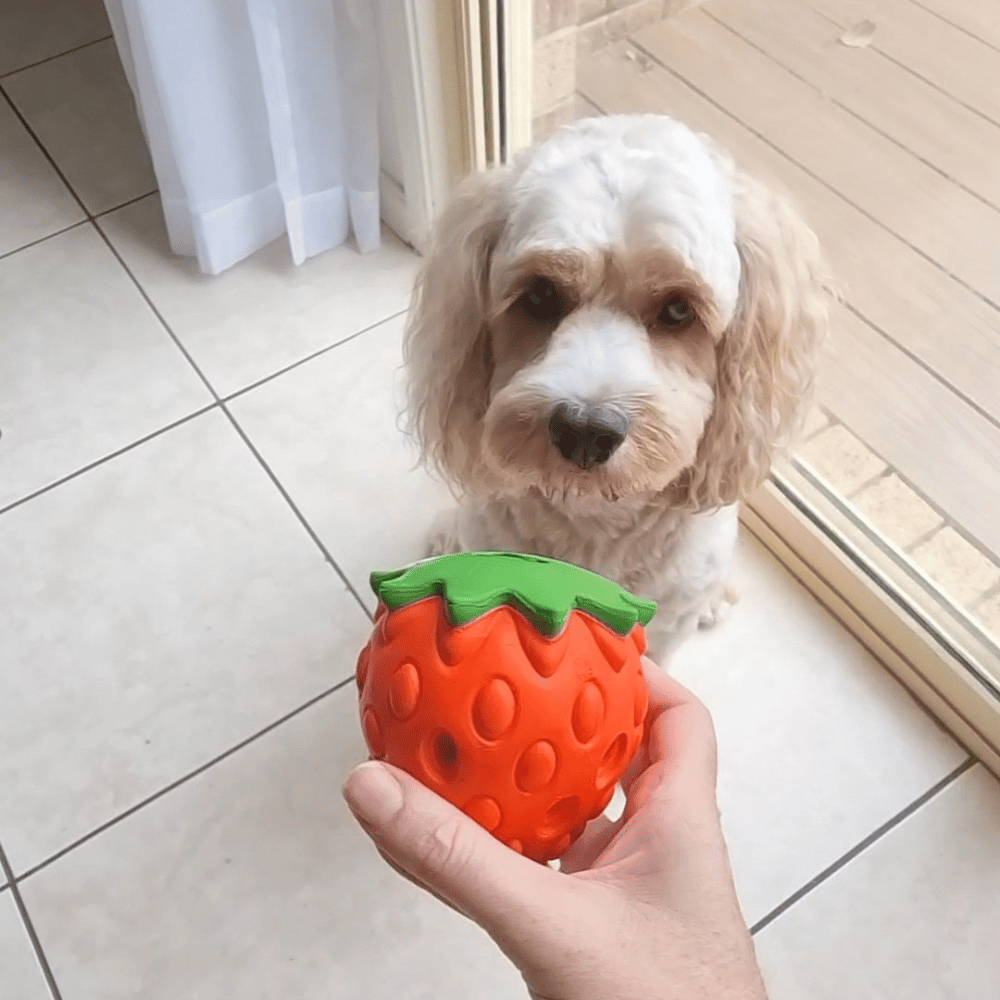
M 501 168 L 459 185 L 417 278 L 403 343 L 410 429 L 424 459 L 459 487 L 473 475 L 489 404 L 489 271 L 509 178 Z

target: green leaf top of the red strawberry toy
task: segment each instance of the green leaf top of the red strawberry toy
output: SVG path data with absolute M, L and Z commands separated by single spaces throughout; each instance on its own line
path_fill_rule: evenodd
M 656 605 L 606 577 L 570 563 L 523 552 L 461 552 L 425 559 L 403 569 L 374 572 L 372 590 L 390 611 L 440 596 L 455 625 L 465 625 L 507 604 L 543 635 L 558 635 L 574 608 L 628 635 L 647 625 Z

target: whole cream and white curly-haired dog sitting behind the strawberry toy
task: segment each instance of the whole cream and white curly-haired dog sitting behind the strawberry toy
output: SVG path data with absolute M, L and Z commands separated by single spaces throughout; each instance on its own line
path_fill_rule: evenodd
M 738 505 L 798 429 L 832 295 L 787 199 L 666 116 L 468 178 L 404 336 L 410 429 L 459 498 L 428 554 L 610 577 L 657 602 L 666 664 L 735 600 Z

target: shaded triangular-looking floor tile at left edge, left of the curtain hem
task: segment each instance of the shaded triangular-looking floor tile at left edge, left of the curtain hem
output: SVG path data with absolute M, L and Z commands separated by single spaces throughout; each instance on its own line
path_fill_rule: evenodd
M 3 32 L 0 31 L 0 37 Z M 0 98 L 0 255 L 86 218 L 38 144 Z

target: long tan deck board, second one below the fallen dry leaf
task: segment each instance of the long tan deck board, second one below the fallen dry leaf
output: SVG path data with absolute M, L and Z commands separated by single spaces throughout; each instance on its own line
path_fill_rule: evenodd
M 1000 268 L 983 248 L 1000 211 L 902 149 L 702 10 L 632 36 L 716 101 L 970 288 L 1000 306 Z

